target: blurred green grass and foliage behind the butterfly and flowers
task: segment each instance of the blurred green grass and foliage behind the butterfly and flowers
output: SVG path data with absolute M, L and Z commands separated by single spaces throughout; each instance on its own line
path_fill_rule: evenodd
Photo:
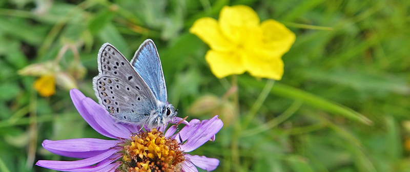
M 211 73 L 209 47 L 188 30 L 239 4 L 296 34 L 282 80 Z M 44 139 L 107 139 L 68 90 L 96 100 L 100 46 L 130 60 L 147 38 L 178 116 L 223 120 L 216 141 L 194 152 L 218 158 L 215 171 L 410 171 L 409 28 L 410 1 L 0 1 L 0 171 L 75 160 L 49 153 Z

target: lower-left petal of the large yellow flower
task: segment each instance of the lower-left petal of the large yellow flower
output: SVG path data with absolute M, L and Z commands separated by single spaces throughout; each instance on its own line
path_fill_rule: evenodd
M 239 53 L 209 50 L 205 59 L 209 63 L 212 73 L 218 78 L 245 72 Z

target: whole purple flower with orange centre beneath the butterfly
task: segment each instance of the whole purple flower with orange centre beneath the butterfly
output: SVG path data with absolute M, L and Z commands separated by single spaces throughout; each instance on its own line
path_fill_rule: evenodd
M 116 140 L 93 138 L 44 140 L 43 147 L 50 152 L 77 161 L 39 160 L 36 165 L 59 171 L 207 171 L 214 170 L 219 160 L 186 154 L 195 150 L 215 134 L 223 123 L 217 116 L 209 120 L 193 119 L 179 132 L 176 125 L 165 128 L 146 128 L 116 123 L 110 114 L 80 91 L 70 91 L 71 99 L 80 115 L 95 131 Z

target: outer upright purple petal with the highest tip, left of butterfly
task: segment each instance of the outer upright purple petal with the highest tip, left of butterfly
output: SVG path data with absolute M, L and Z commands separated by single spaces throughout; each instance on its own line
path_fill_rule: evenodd
M 93 116 L 88 113 L 86 110 L 86 107 L 83 104 L 83 99 L 86 98 L 83 93 L 81 93 L 77 89 L 71 89 L 70 90 L 70 96 L 71 99 L 73 100 L 74 106 L 77 109 L 78 113 L 84 118 L 84 120 L 87 121 L 87 123 L 94 128 L 95 131 L 97 131 L 99 134 L 104 135 L 109 138 L 117 138 L 114 135 L 108 133 L 106 130 L 103 129 L 94 119 Z

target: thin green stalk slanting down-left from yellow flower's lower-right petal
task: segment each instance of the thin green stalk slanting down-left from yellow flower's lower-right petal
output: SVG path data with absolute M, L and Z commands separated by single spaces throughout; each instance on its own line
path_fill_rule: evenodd
M 259 111 L 260 107 L 262 106 L 263 102 L 265 99 L 268 97 L 270 91 L 272 90 L 273 84 L 275 83 L 275 80 L 269 79 L 267 83 L 265 84 L 265 87 L 263 88 L 262 92 L 259 94 L 258 99 L 256 99 L 255 103 L 252 105 L 251 110 L 249 111 L 248 115 L 245 117 L 245 120 L 243 121 L 243 128 L 247 128 L 249 123 L 252 121 L 252 119 L 255 117 L 256 113 Z

